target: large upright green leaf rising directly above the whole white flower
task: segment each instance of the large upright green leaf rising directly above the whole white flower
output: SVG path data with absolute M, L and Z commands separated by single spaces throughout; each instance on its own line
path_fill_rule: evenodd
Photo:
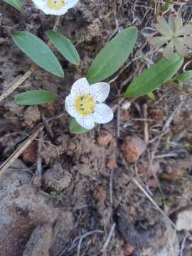
M 113 75 L 126 62 L 137 40 L 137 28 L 124 29 L 102 48 L 87 72 L 90 84 Z

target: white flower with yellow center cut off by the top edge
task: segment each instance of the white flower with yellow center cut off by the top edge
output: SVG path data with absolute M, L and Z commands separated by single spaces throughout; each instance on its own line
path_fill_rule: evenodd
M 73 8 L 79 0 L 33 0 L 38 9 L 45 14 L 63 15 Z

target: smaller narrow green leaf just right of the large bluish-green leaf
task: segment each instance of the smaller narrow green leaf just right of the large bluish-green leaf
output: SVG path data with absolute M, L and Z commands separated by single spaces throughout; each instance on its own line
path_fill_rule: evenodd
M 46 35 L 64 58 L 75 65 L 80 64 L 80 56 L 78 55 L 78 51 L 68 38 L 57 31 L 46 31 Z

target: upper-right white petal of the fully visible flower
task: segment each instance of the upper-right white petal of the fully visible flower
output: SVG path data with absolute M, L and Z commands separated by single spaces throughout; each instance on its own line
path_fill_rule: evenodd
M 104 102 L 110 93 L 110 85 L 107 82 L 97 82 L 90 85 L 89 92 L 95 101 Z

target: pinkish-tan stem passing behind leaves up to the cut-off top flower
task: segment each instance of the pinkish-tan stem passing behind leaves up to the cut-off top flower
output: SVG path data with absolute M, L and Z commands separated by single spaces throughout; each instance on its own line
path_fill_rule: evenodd
M 55 24 L 53 26 L 53 30 L 56 31 L 57 26 L 59 24 L 59 16 L 56 18 Z M 51 45 L 51 41 L 48 41 L 48 46 Z M 14 92 L 14 90 L 16 90 L 16 88 L 21 85 L 35 70 L 36 68 L 38 68 L 38 65 L 36 65 L 35 63 L 33 63 L 31 65 L 31 68 L 22 76 L 22 78 L 20 78 L 17 82 L 14 83 L 14 85 L 12 85 L 8 90 L 6 90 L 6 92 L 4 92 L 1 96 L 0 96 L 0 102 L 2 100 L 4 100 L 7 96 L 9 96 L 12 92 Z

